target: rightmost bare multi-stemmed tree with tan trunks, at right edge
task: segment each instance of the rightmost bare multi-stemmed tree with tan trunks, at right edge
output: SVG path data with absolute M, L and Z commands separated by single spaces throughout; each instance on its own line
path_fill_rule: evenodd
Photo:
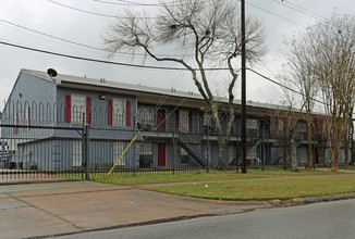
M 333 14 L 331 21 L 308 27 L 297 39 L 302 58 L 320 84 L 327 115 L 331 169 L 338 160 L 355 93 L 355 18 Z

